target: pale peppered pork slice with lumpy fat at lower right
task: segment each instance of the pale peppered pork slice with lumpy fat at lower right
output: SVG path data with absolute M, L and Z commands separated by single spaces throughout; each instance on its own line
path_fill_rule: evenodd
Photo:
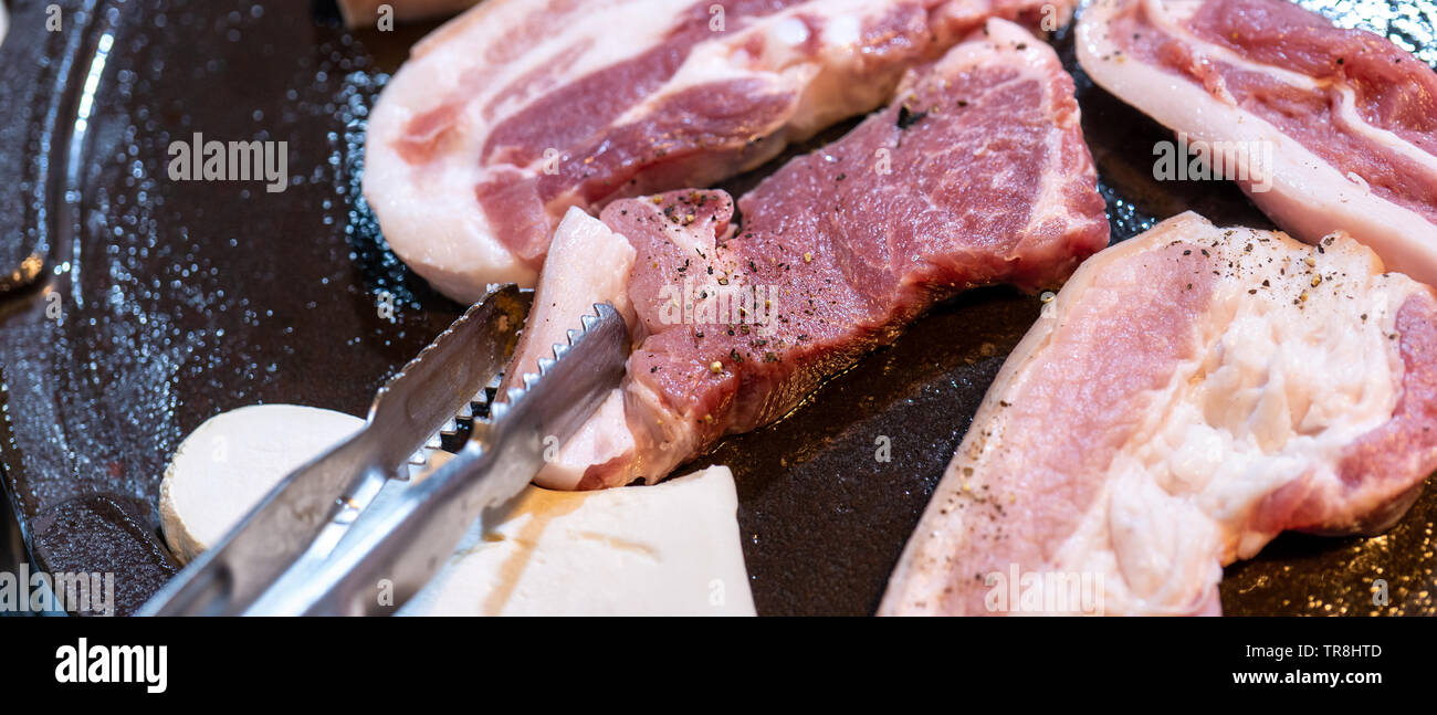
M 884 614 L 1219 613 L 1283 530 L 1390 525 L 1437 468 L 1437 300 L 1332 234 L 1170 218 L 1003 365 Z

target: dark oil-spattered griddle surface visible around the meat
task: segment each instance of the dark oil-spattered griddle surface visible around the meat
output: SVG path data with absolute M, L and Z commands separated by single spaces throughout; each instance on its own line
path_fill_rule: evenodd
M 17 185 L 0 192 L 0 258 L 22 237 L 50 256 L 42 286 L 0 299 L 0 457 L 33 557 L 118 570 L 128 612 L 174 570 L 158 487 L 188 431 L 256 402 L 362 413 L 458 316 L 384 247 L 358 197 L 365 109 L 430 26 L 351 36 L 328 3 L 293 0 L 60 4 L 63 32 L 46 33 L 43 4 L 30 3 L 0 45 L 0 171 Z M 1437 60 L 1431 0 L 1341 7 Z M 1230 184 L 1157 185 L 1150 152 L 1168 135 L 1094 89 L 1068 37 L 1056 45 L 1078 78 L 1114 238 L 1186 208 L 1270 225 Z M 193 132 L 287 141 L 290 185 L 170 181 L 167 146 Z M 734 469 L 760 613 L 872 613 L 1036 313 L 1038 299 L 1016 291 L 963 296 L 786 421 L 696 462 Z M 887 462 L 875 459 L 881 436 Z M 1280 537 L 1227 570 L 1224 610 L 1371 613 L 1384 579 L 1384 612 L 1437 613 L 1434 520 L 1428 490 L 1381 537 Z

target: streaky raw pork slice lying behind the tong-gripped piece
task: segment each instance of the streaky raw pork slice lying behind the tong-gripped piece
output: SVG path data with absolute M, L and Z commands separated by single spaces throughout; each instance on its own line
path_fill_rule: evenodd
M 487 0 L 369 118 L 365 197 L 438 290 L 532 286 L 569 207 L 707 187 L 884 105 L 987 17 L 1075 0 Z

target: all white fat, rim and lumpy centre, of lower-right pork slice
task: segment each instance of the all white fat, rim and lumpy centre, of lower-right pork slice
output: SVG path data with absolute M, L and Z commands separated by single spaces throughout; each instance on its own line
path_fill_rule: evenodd
M 1012 478 L 994 471 L 1003 469 L 996 465 L 1004 464 L 1006 439 L 1030 436 L 1042 425 L 1013 424 L 1004 408 L 1039 376 L 1035 363 L 1061 359 L 1049 347 L 1069 307 L 1099 300 L 1121 312 L 1121 294 L 1089 289 L 1109 266 L 1173 241 L 1211 251 L 1214 266 L 1232 258 L 1242 276 L 1214 279 L 1211 300 L 1190 327 L 1198 355 L 1151 395 L 1078 528 L 1048 563 L 1023 569 L 1101 574 L 1106 614 L 1217 613 L 1221 567 L 1252 557 L 1276 536 L 1249 527 L 1259 501 L 1303 478 L 1315 490 L 1339 490 L 1342 449 L 1387 422 L 1397 403 L 1397 310 L 1427 289 L 1382 273 L 1372 251 L 1342 234 L 1323 240 L 1325 253 L 1318 254 L 1280 233 L 1217 228 L 1186 212 L 1094 256 L 1043 307 L 984 396 L 894 571 L 881 613 L 950 610 L 946 592 L 954 579 L 973 576 L 944 564 L 974 548 L 974 530 L 983 524 L 938 505 L 951 494 L 979 494 L 984 484 Z M 1308 257 L 1318 261 L 1316 274 L 1338 286 L 1303 290 Z M 1272 287 L 1249 293 L 1262 280 Z M 1306 297 L 1299 310 L 1293 300 L 1300 294 Z

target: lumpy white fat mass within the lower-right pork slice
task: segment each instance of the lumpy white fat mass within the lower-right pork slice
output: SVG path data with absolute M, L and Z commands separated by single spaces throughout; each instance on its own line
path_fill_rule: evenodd
M 1209 246 L 1220 230 L 1207 230 L 1186 237 Z M 1275 283 L 1279 267 L 1302 276 L 1309 251 L 1257 240 L 1265 235 L 1239 230 L 1223 248 L 1250 243 L 1244 261 L 1272 257 Z M 1387 336 L 1411 281 L 1374 266 L 1355 241 L 1335 241 L 1322 271 L 1345 273 L 1344 290 L 1309 291 L 1303 310 L 1292 309 L 1289 291 L 1249 294 L 1250 279 L 1223 281 L 1207 320 L 1193 326 L 1206 352 L 1181 365 L 1161 406 L 1142 415 L 1111 467 L 1098 500 L 1105 508 L 1086 515 L 1055 569 L 1112 574 L 1104 583 L 1114 614 L 1193 613 L 1216 603 L 1221 566 L 1277 536 L 1244 528 L 1253 505 L 1313 469 L 1336 480 L 1341 451 L 1392 415 L 1403 368 Z M 1364 296 L 1368 320 L 1348 294 Z

